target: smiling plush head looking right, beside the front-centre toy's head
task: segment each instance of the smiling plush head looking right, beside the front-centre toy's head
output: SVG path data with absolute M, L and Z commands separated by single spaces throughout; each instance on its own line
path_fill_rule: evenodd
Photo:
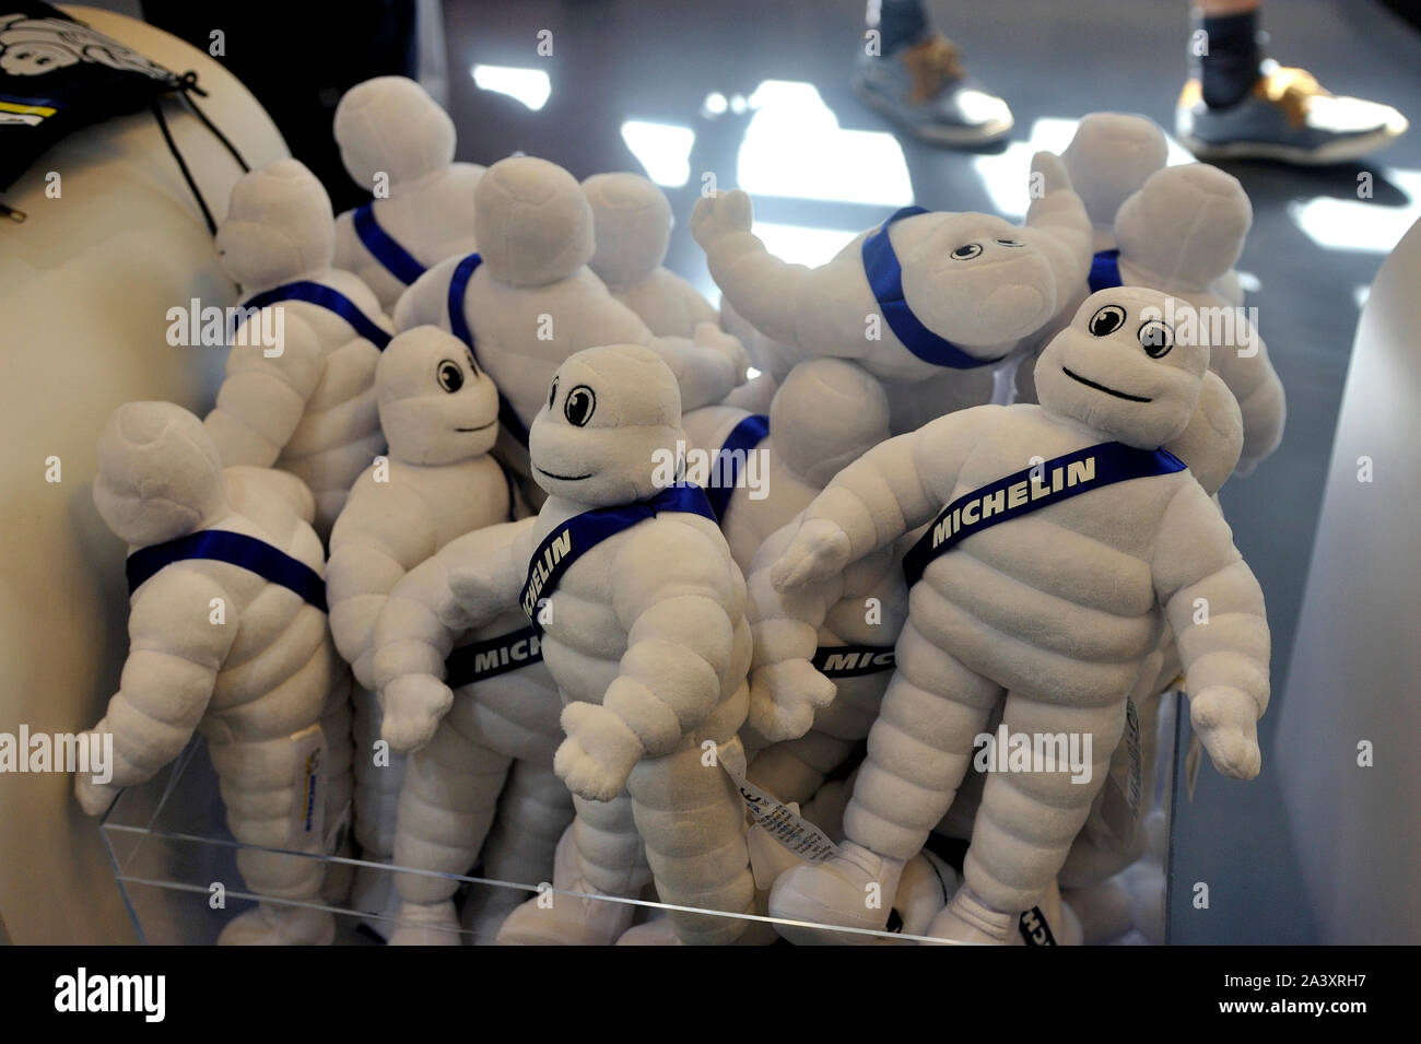
M 408 464 L 482 456 L 499 436 L 493 378 L 439 327 L 415 327 L 389 342 L 375 366 L 375 401 L 389 456 Z

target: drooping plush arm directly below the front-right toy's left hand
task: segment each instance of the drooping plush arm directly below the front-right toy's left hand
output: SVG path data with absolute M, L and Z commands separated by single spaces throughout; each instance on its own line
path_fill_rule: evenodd
M 843 574 L 782 594 L 770 582 L 774 562 L 794 537 L 790 523 L 773 533 L 755 555 L 746 578 L 746 618 L 755 642 L 750 662 L 749 724 L 772 741 L 809 732 L 814 712 L 827 707 L 837 686 L 813 663 L 818 628 L 843 592 Z

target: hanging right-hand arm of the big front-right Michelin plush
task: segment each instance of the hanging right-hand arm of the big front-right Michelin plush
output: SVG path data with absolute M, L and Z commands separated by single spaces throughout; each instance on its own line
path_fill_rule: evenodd
M 1174 631 L 1189 719 L 1225 776 L 1258 776 L 1269 697 L 1263 592 L 1223 516 L 1192 477 L 1165 509 L 1151 570 Z

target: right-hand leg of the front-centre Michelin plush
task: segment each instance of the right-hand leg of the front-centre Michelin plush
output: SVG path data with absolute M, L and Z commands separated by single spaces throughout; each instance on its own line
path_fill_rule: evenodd
M 756 912 L 745 805 L 719 766 L 702 764 L 695 737 L 672 754 L 638 763 L 627 788 L 664 903 Z M 737 942 L 755 923 L 681 910 L 669 916 L 682 942 L 702 946 Z

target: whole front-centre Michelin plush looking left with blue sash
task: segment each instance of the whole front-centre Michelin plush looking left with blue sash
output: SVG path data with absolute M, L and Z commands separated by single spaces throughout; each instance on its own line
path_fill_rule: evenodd
M 662 456 L 685 437 L 676 379 L 654 351 L 568 358 L 533 422 L 533 472 L 549 494 L 540 514 L 460 537 L 401 582 L 377 626 L 375 675 L 385 737 L 418 749 L 450 706 L 441 678 L 452 636 L 522 607 L 566 702 L 554 766 L 577 821 L 553 883 L 635 898 L 654 881 L 666 903 L 749 913 L 745 807 L 716 764 L 740 749 L 745 581 L 705 494 L 658 489 Z M 499 939 L 610 943 L 631 912 L 533 899 Z M 728 943 L 750 928 L 671 918 L 684 942 Z

